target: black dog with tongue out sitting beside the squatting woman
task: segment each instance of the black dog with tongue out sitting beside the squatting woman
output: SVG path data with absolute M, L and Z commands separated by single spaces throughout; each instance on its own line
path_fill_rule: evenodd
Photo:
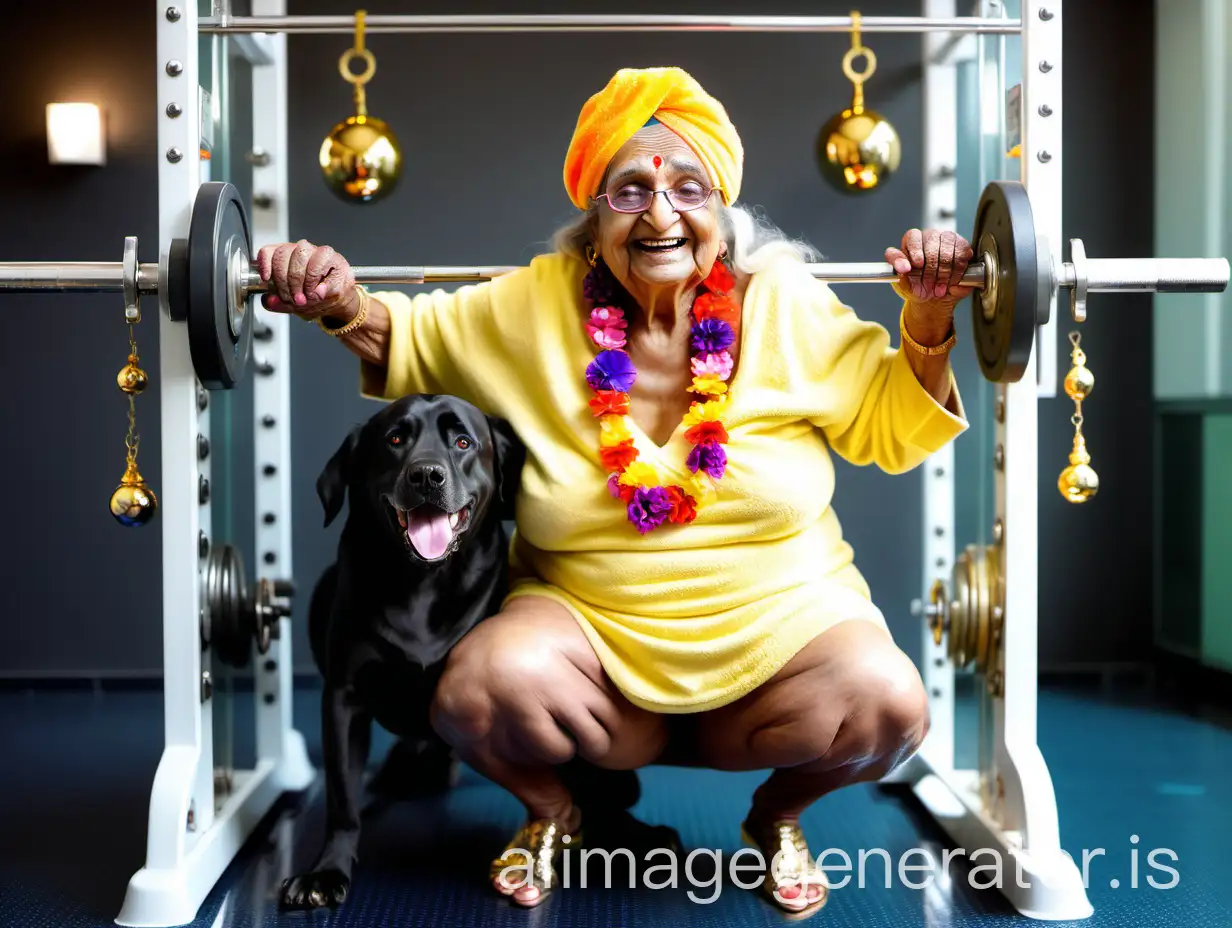
M 355 428 L 318 478 L 326 526 L 350 503 L 309 616 L 324 678 L 325 844 L 310 871 L 283 884 L 283 906 L 346 898 L 373 721 L 400 738 L 394 751 L 446 779 L 450 749 L 429 707 L 450 648 L 506 593 L 501 521 L 513 518 L 524 460 L 508 423 L 416 394 Z

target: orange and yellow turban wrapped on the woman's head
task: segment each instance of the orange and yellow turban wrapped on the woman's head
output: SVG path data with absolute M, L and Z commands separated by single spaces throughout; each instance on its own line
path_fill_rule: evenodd
M 680 68 L 625 68 L 578 116 L 564 158 L 564 189 L 573 205 L 586 208 L 612 155 L 652 117 L 697 153 L 727 205 L 736 202 L 744 148 L 723 105 Z

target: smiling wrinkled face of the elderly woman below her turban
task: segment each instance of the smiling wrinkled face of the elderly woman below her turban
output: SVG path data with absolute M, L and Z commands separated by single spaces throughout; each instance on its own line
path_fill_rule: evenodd
M 616 153 L 598 192 L 620 205 L 622 191 L 631 185 L 696 193 L 710 187 L 710 179 L 684 139 L 654 124 Z M 621 213 L 600 200 L 595 246 L 612 275 L 643 304 L 658 290 L 697 286 L 710 274 L 722 244 L 715 210 L 719 196 L 715 191 L 696 210 L 676 211 L 658 193 L 642 213 Z

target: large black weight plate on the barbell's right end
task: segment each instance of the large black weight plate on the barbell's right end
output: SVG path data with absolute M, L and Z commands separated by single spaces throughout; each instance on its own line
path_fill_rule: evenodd
M 978 258 L 986 249 L 992 250 L 997 263 L 994 291 L 977 290 L 971 295 L 979 370 L 995 383 L 1014 383 L 1023 378 L 1031 360 L 1041 286 L 1041 255 L 1026 187 L 1008 180 L 994 180 L 984 187 L 976 207 L 971 248 Z M 995 312 L 989 319 L 984 301 L 993 293 Z

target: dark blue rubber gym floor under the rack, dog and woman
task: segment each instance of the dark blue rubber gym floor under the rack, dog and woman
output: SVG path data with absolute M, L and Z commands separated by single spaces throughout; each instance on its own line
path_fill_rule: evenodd
M 240 695 L 234 699 L 237 718 L 248 718 L 250 704 Z M 298 691 L 296 699 L 296 718 L 319 763 L 317 694 Z M 0 693 L 6 748 L 0 764 L 0 927 L 112 923 L 128 877 L 144 858 L 161 726 L 158 693 Z M 250 749 L 241 743 L 243 727 L 237 725 L 237 759 Z M 1092 858 L 1089 869 L 1095 914 L 1057 924 L 1232 926 L 1232 858 L 1222 845 L 1232 834 L 1232 731 L 1094 689 L 1045 689 L 1040 743 L 1053 774 L 1066 850 L 1077 860 L 1083 849 L 1105 850 Z M 375 760 L 387 744 L 387 738 L 377 739 Z M 557 890 L 538 910 L 514 908 L 490 892 L 484 876 L 489 858 L 520 823 L 521 808 L 506 792 L 466 771 L 446 796 L 370 812 L 356 882 L 335 912 L 277 911 L 278 885 L 310 861 L 323 826 L 319 785 L 282 804 L 225 873 L 193 926 L 719 928 L 787 921 L 756 891 L 729 880 L 713 882 L 713 852 L 722 852 L 726 871 L 740 848 L 738 824 L 760 774 L 652 768 L 642 778 L 634 812 L 643 821 L 673 826 L 685 844 L 678 889 L 648 889 L 647 880 L 665 876 L 658 871 L 637 877 L 631 890 L 628 870 L 617 859 L 612 889 L 594 882 L 583 889 L 575 874 L 568 889 Z M 803 823 L 814 852 L 841 848 L 853 861 L 867 848 L 883 848 L 896 861 L 909 848 L 929 848 L 940 859 L 946 847 L 946 836 L 915 800 L 892 788 L 843 790 L 811 808 Z M 690 884 L 685 854 L 697 848 L 708 857 L 695 858 Z M 1156 859 L 1178 876 L 1147 865 L 1152 849 L 1175 854 Z M 650 858 L 654 863 L 663 858 Z M 891 874 L 887 889 L 883 859 L 867 858 L 864 887 L 855 885 L 854 869 L 839 874 L 851 885 L 834 890 L 809 922 L 837 928 L 1031 923 L 995 891 L 972 889 L 970 866 L 958 858 L 924 889 L 910 889 Z M 1175 885 L 1156 889 L 1148 877 Z

